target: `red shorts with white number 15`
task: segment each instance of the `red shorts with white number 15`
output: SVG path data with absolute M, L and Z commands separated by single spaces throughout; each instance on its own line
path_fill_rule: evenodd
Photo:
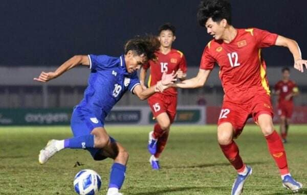
M 166 112 L 170 122 L 174 121 L 177 109 L 177 96 L 155 93 L 148 98 L 148 104 L 153 117 L 156 118 L 159 114 Z

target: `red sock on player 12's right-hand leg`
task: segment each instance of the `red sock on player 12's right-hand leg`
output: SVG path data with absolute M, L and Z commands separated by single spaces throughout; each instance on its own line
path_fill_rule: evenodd
M 271 135 L 266 136 L 266 139 L 269 151 L 279 168 L 280 175 L 289 174 L 286 152 L 284 152 L 282 141 L 277 132 L 274 131 Z

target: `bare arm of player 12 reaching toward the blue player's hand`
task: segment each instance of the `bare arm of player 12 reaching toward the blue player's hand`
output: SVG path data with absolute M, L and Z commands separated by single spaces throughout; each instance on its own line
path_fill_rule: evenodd
M 210 75 L 211 70 L 204 70 L 200 69 L 197 76 L 184 80 L 180 83 L 173 84 L 173 87 L 179 87 L 179 88 L 197 88 L 197 87 L 202 87 L 205 85 L 209 75 Z

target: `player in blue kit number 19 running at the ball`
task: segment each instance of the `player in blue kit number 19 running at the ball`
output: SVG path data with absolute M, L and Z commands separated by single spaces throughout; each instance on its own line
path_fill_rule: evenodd
M 127 41 L 124 55 L 119 58 L 105 55 L 74 56 L 54 72 L 41 72 L 34 80 L 47 82 L 62 75 L 77 65 L 91 69 L 88 86 L 83 100 L 74 108 L 71 129 L 74 137 L 64 140 L 50 140 L 39 153 L 39 163 L 46 163 L 55 153 L 65 149 L 85 149 L 94 160 L 114 159 L 107 195 L 120 195 L 126 171 L 128 153 L 104 128 L 104 118 L 127 91 L 136 94 L 140 100 L 147 99 L 166 85 L 176 80 L 176 74 L 164 74 L 157 85 L 144 90 L 139 82 L 137 70 L 148 60 L 155 60 L 160 42 L 153 36 L 136 37 Z

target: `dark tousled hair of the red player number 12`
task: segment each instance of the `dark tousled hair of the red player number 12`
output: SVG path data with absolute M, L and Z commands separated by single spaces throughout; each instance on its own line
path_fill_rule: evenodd
M 197 18 L 202 27 L 206 26 L 209 18 L 214 22 L 226 19 L 231 25 L 231 5 L 227 0 L 203 0 L 200 3 Z

